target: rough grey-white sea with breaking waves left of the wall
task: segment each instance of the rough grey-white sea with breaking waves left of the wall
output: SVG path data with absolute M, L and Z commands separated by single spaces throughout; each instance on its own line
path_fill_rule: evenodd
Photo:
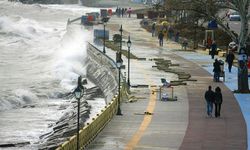
M 0 0 L 0 144 L 30 142 L 69 105 L 63 94 L 85 76 L 90 31 L 68 18 L 99 11 L 80 5 L 25 5 Z M 1 149 L 1 148 L 0 148 Z

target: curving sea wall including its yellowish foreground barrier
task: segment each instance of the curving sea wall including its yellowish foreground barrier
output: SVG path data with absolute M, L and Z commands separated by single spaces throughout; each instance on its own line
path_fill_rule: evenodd
M 88 46 L 87 78 L 95 81 L 104 92 L 107 105 L 79 131 L 80 149 L 84 149 L 113 118 L 118 108 L 118 71 L 115 62 L 93 45 Z M 121 100 L 127 97 L 126 82 L 121 83 Z M 77 146 L 76 135 L 60 145 L 57 150 L 73 150 Z

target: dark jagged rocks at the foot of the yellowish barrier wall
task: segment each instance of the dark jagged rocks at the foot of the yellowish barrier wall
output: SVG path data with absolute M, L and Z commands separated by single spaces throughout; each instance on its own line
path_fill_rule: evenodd
M 86 99 L 103 97 L 98 87 L 87 89 L 85 99 L 80 102 L 80 128 L 89 118 L 91 106 Z M 40 136 L 40 150 L 55 149 L 77 132 L 77 101 L 72 99 L 71 106 L 65 109 L 65 114 L 53 125 L 50 125 L 51 132 Z

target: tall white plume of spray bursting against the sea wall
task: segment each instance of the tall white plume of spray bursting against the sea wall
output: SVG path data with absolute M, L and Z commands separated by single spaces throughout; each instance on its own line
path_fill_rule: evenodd
M 69 25 L 55 55 L 55 76 L 61 86 L 72 90 L 79 75 L 85 76 L 87 31 L 80 26 Z

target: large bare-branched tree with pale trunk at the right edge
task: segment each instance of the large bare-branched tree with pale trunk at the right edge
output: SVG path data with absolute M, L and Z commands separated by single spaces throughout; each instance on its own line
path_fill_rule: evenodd
M 250 53 L 250 49 L 246 49 L 247 39 L 250 37 L 250 31 L 248 30 L 248 22 L 250 20 L 249 14 L 250 0 L 168 0 L 165 7 L 172 10 L 185 10 L 189 12 L 196 12 L 199 14 L 199 22 L 215 20 L 219 27 L 223 29 L 233 41 L 236 41 L 238 46 L 238 52 L 244 49 L 247 54 Z M 177 5 L 178 4 L 178 5 Z M 228 18 L 226 11 L 234 10 L 239 12 L 241 17 L 240 34 L 237 35 L 234 31 L 228 28 Z M 238 92 L 249 92 L 248 85 L 248 69 L 246 62 L 242 64 L 239 62 L 238 67 Z

